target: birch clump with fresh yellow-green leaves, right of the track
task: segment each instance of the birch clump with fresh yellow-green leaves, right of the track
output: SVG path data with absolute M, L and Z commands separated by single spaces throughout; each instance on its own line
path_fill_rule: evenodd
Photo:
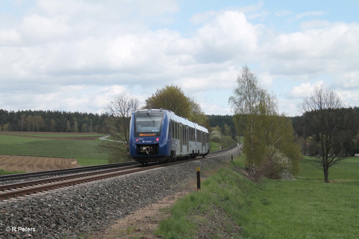
M 296 174 L 300 148 L 293 142 L 291 121 L 278 115 L 276 96 L 260 86 L 247 66 L 242 68 L 237 83 L 228 102 L 235 113 L 237 131 L 245 136 L 243 149 L 250 173 L 272 178 Z

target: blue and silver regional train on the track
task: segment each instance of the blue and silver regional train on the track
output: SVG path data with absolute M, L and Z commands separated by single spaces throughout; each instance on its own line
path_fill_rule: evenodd
M 130 156 L 142 164 L 209 153 L 208 130 L 170 110 L 135 111 L 130 122 Z

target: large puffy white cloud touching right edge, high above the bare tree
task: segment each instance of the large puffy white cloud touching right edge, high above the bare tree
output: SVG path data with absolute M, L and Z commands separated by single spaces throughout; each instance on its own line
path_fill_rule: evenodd
M 275 74 L 325 74 L 354 70 L 359 64 L 359 24 L 332 23 L 322 28 L 284 33 L 262 46 L 280 67 Z

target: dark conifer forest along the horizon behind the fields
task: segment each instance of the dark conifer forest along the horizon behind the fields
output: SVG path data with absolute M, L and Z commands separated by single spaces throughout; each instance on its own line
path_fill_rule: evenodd
M 359 107 L 354 107 L 359 115 Z M 210 128 L 220 129 L 224 135 L 235 138 L 237 129 L 232 115 L 207 115 Z M 71 133 L 102 133 L 108 115 L 83 112 L 66 112 L 59 110 L 4 110 L 0 109 L 0 131 L 23 132 L 71 132 Z M 304 154 L 311 152 L 311 145 L 306 143 L 309 135 L 303 116 L 289 117 L 294 128 L 295 141 L 302 145 Z M 240 131 L 240 130 L 239 130 Z M 241 136 L 241 132 L 238 132 Z M 359 135 L 348 145 L 345 151 L 354 154 L 359 152 Z

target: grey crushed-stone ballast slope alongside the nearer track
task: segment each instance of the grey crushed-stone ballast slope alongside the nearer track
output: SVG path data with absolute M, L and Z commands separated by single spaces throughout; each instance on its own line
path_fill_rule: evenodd
M 200 158 L 21 201 L 0 203 L 0 238 L 85 237 L 91 231 L 180 191 L 186 179 L 196 178 L 196 167 L 203 171 L 229 159 L 230 154 Z

